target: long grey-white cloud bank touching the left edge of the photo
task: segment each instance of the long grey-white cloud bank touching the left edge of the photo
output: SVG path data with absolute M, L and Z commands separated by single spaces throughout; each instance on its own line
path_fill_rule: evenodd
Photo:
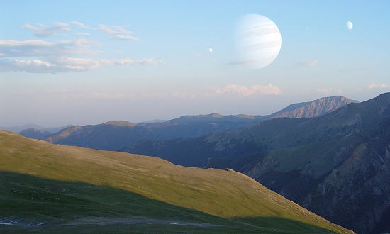
M 0 40 L 0 72 L 83 72 L 99 68 L 101 65 L 157 65 L 165 64 L 154 57 L 133 60 L 93 60 L 74 57 L 77 55 L 99 55 L 100 51 L 89 47 L 99 47 L 101 43 L 94 40 L 74 39 L 49 43 L 43 40 Z M 20 59 L 23 57 L 23 60 Z M 32 57 L 26 60 L 26 57 Z M 3 59 L 1 59 L 3 58 Z

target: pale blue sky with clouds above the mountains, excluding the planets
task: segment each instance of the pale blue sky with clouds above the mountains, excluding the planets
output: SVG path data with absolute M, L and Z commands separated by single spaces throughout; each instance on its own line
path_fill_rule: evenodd
M 390 91 L 389 12 L 390 1 L 3 0 L 0 126 L 267 115 L 337 95 L 366 101 Z M 282 37 L 261 69 L 238 55 L 247 14 L 269 18 Z

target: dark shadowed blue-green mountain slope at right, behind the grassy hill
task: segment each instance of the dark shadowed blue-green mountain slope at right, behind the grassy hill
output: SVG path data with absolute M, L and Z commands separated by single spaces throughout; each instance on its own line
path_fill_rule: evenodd
M 316 118 L 274 118 L 200 138 L 143 140 L 123 151 L 231 168 L 357 233 L 390 231 L 390 93 Z

